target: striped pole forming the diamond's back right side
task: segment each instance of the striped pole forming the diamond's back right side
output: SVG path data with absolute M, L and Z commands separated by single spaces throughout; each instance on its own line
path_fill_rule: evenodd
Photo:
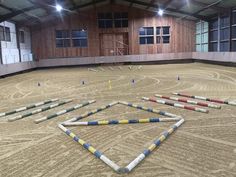
M 172 114 L 172 113 L 160 111 L 160 110 L 157 110 L 157 109 L 148 108 L 148 107 L 145 107 L 145 106 L 140 106 L 140 105 L 128 103 L 128 102 L 125 102 L 125 101 L 119 101 L 119 104 L 123 104 L 123 105 L 133 107 L 133 108 L 136 108 L 136 109 L 141 109 L 141 110 L 144 110 L 144 111 L 160 114 L 160 115 L 167 116 L 167 117 L 181 117 L 181 116 L 178 116 L 176 114 Z

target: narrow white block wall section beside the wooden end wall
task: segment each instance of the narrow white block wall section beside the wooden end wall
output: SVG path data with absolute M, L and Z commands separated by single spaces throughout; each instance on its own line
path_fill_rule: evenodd
M 25 41 L 20 43 L 21 61 L 33 61 L 33 55 L 31 52 L 31 35 L 30 30 L 26 27 L 20 28 L 19 31 L 24 31 Z

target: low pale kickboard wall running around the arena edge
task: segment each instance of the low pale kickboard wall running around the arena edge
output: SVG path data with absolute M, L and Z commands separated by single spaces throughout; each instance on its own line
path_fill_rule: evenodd
M 109 63 L 136 63 L 136 62 L 171 62 L 171 61 L 207 61 L 214 63 L 236 64 L 236 52 L 189 52 L 189 53 L 166 53 L 148 55 L 126 55 L 107 57 L 82 57 L 82 58 L 55 58 L 40 61 L 21 62 L 14 64 L 0 64 L 0 76 L 14 74 L 30 69 L 81 66 L 91 64 Z

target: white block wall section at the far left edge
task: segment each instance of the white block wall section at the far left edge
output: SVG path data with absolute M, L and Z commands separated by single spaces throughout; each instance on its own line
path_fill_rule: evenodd
M 16 26 L 11 22 L 2 22 L 0 25 L 9 27 L 11 33 L 11 41 L 0 41 L 3 64 L 18 63 L 20 61 L 20 57 L 16 41 Z

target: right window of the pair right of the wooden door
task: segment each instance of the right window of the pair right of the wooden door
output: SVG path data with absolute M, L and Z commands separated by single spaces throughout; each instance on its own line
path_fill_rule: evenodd
M 170 43 L 170 27 L 156 27 L 156 43 L 168 44 Z

